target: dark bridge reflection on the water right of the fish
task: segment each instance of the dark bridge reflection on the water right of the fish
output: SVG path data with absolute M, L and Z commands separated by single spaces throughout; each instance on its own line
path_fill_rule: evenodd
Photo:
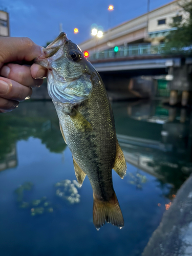
M 171 184 L 171 199 L 192 172 L 190 110 L 139 101 L 114 104 L 114 115 L 126 161 Z

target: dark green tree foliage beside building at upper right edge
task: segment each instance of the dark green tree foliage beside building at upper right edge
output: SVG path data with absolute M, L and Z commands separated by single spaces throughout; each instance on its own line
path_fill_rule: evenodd
M 185 53 L 186 47 L 192 46 L 192 0 L 183 2 L 180 7 L 188 14 L 188 18 L 186 20 L 179 19 L 178 15 L 178 18 L 169 24 L 175 28 L 165 38 L 166 48 L 169 52 Z

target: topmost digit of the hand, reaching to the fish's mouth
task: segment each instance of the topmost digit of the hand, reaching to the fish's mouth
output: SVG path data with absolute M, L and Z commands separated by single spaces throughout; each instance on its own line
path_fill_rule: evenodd
M 42 47 L 28 37 L 1 37 L 0 68 L 11 61 L 31 61 L 42 54 Z

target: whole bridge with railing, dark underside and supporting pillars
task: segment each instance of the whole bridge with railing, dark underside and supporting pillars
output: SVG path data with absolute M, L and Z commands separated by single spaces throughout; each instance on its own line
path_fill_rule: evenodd
M 125 99 L 125 94 L 130 92 L 141 98 L 168 97 L 170 94 L 169 104 L 175 105 L 181 101 L 184 106 L 191 91 L 192 58 L 187 57 L 191 51 L 191 47 L 188 47 L 181 56 L 174 49 L 172 52 L 168 51 L 165 44 L 133 44 L 116 47 L 116 51 L 113 48 L 93 52 L 89 60 L 100 73 L 106 89 L 118 92 L 119 99 Z M 151 76 L 151 84 L 146 84 L 146 79 L 140 79 L 135 84 L 134 77 L 141 75 Z M 116 76 L 119 76 L 118 87 Z M 117 99 L 114 93 L 110 94 L 110 97 Z M 133 95 L 129 95 L 130 97 Z

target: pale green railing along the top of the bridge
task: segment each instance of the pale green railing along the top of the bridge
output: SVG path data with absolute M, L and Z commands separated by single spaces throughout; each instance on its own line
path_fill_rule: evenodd
M 152 45 L 130 45 L 130 46 L 120 46 L 117 52 L 114 49 L 108 49 L 101 52 L 95 52 L 91 54 L 90 60 L 94 59 L 109 59 L 109 58 L 120 58 L 128 57 L 134 55 L 152 55 L 152 54 L 162 54 L 165 50 L 165 45 L 160 44 L 158 46 Z

